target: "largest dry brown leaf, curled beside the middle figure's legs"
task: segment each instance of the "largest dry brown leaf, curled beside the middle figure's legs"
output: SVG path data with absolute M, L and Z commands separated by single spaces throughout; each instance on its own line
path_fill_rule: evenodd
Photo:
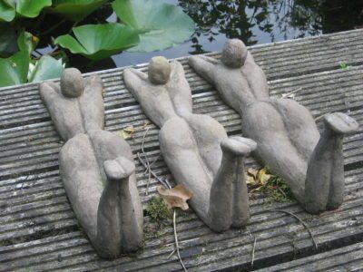
M 172 189 L 165 189 L 162 186 L 158 186 L 158 192 L 164 199 L 166 205 L 172 208 L 188 209 L 187 200 L 191 199 L 192 193 L 189 189 L 186 189 L 182 185 L 177 185 Z

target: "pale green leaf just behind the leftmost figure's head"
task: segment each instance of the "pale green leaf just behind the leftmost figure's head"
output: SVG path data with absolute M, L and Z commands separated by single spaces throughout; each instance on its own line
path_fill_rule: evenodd
M 35 63 L 33 71 L 28 75 L 28 82 L 36 83 L 58 78 L 63 71 L 62 59 L 56 60 L 50 55 L 45 54 Z

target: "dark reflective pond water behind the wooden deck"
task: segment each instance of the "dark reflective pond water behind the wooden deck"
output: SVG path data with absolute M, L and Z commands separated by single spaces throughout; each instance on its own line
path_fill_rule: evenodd
M 267 44 L 363 27 L 363 0 L 169 0 L 182 6 L 197 24 L 191 41 L 153 53 L 120 53 L 114 65 L 220 51 L 228 38 L 245 44 Z M 113 17 L 111 17 L 113 20 Z M 112 64 L 112 63 L 109 63 Z

